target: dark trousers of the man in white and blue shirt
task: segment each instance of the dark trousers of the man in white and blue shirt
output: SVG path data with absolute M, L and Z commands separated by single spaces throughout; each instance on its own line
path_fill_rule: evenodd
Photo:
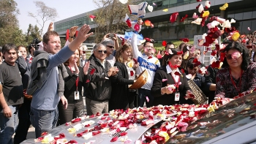
M 140 88 L 139 89 L 139 96 L 140 96 L 140 100 L 139 100 L 139 102 L 140 102 L 139 106 L 140 107 L 143 107 L 144 102 L 146 102 L 147 107 L 152 107 L 153 106 L 154 97 L 151 96 L 150 90 Z M 149 101 L 146 100 L 146 96 L 148 96 Z

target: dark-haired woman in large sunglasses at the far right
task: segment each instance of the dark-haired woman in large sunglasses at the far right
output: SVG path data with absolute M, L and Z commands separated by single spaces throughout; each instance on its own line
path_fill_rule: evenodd
M 216 76 L 215 97 L 233 98 L 256 88 L 256 64 L 250 63 L 249 50 L 240 42 L 230 42 L 222 69 Z

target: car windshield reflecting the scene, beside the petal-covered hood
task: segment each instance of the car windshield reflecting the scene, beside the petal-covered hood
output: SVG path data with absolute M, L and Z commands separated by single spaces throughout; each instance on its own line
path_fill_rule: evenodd
M 256 120 L 256 93 L 235 99 L 215 112 L 203 115 L 167 143 L 203 143 Z

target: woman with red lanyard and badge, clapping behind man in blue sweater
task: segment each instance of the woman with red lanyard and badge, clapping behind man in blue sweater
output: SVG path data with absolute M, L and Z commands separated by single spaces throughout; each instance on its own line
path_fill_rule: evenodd
M 84 72 L 87 72 L 89 68 L 89 62 L 86 62 L 85 67 L 79 66 L 80 53 L 79 49 L 75 50 L 75 53 L 64 63 L 68 77 L 64 79 L 64 96 L 67 98 L 67 109 L 64 109 L 64 105 L 59 103 L 59 124 L 65 124 L 71 121 L 73 118 L 80 117 L 80 114 L 84 110 L 82 87 L 86 84 L 84 80 Z

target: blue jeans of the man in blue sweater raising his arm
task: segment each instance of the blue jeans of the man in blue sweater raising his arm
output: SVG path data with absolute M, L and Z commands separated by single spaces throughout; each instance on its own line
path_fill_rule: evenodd
M 36 138 L 38 138 L 42 132 L 49 132 L 50 129 L 56 127 L 59 112 L 57 107 L 55 110 L 37 110 L 31 107 L 29 115 L 31 124 L 35 128 Z

